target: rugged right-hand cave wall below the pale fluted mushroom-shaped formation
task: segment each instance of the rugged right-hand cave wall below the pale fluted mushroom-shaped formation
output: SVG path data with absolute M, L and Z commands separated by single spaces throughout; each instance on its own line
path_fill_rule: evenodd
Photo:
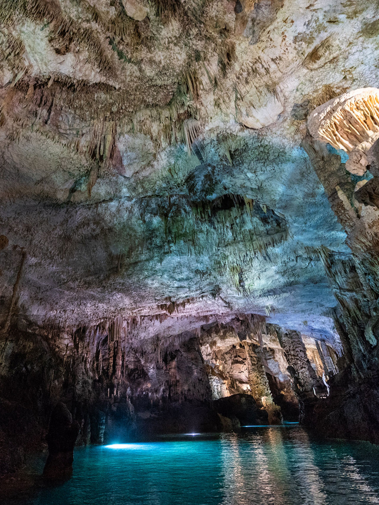
M 366 185 L 371 188 L 371 196 L 375 196 L 377 153 L 372 166 L 365 166 L 364 175 L 356 177 L 345 170 L 342 159 L 346 161 L 346 157 L 341 151 L 310 137 L 303 145 L 325 189 L 330 208 L 347 233 L 346 242 L 352 252 L 346 255 L 326 247 L 315 251 L 338 301 L 334 319 L 345 352 L 338 360 L 340 372 L 329 381 L 330 395 L 326 401 L 317 402 L 304 421 L 323 434 L 378 443 L 379 249 L 376 230 L 379 210 L 375 198 L 359 196 Z

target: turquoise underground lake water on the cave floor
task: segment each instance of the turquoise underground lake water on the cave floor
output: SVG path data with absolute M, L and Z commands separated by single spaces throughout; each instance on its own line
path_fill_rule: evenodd
M 116 446 L 117 447 L 117 446 Z M 75 450 L 70 481 L 27 505 L 379 504 L 379 446 L 299 426 Z

